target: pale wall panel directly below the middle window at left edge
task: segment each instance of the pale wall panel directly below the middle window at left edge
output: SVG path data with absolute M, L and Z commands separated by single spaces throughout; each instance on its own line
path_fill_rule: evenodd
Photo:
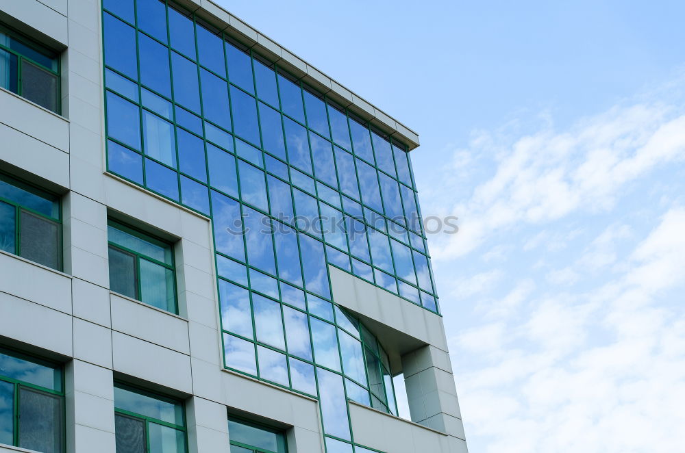
M 71 277 L 4 252 L 0 269 L 0 291 L 71 314 Z

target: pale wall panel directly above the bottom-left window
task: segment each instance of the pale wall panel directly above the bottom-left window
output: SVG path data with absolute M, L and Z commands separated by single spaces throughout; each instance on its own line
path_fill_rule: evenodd
M 3 292 L 0 307 L 0 335 L 71 357 L 70 315 Z

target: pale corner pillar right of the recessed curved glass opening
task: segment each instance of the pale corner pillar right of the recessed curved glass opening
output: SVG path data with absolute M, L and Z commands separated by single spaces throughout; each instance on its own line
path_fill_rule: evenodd
M 402 356 L 412 421 L 445 432 L 466 452 L 464 425 L 447 351 L 423 346 Z M 463 445 L 461 445 L 463 444 Z

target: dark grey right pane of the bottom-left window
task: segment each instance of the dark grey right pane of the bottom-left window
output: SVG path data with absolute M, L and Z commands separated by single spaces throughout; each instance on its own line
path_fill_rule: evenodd
M 64 448 L 62 397 L 19 387 L 19 447 L 42 453 Z

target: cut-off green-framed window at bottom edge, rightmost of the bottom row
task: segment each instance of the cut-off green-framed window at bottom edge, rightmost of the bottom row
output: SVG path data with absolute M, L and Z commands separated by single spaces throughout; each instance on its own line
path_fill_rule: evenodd
M 228 426 L 231 453 L 288 453 L 285 433 L 282 430 L 235 416 L 228 417 Z M 275 450 L 266 448 L 267 443 L 275 444 Z

